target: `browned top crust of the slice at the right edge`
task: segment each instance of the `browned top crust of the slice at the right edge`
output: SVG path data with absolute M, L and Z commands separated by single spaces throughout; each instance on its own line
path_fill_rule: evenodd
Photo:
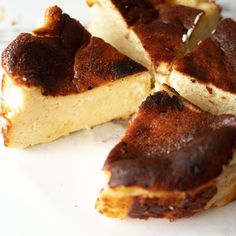
M 236 23 L 225 19 L 191 53 L 177 61 L 175 70 L 204 84 L 236 93 Z

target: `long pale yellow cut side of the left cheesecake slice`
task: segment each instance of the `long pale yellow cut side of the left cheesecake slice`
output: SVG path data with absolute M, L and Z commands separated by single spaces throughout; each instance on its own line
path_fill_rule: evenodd
M 25 148 L 81 129 L 128 117 L 150 94 L 150 75 L 138 73 L 80 94 L 43 96 L 38 87 L 14 84 L 5 76 L 5 143 Z

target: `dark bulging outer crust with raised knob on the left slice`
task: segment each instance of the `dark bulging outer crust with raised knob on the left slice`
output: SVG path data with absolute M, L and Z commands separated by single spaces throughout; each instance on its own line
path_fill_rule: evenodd
M 75 93 L 74 55 L 89 40 L 90 34 L 78 21 L 51 7 L 42 28 L 19 35 L 4 50 L 2 66 L 19 85 L 40 86 L 45 95 Z

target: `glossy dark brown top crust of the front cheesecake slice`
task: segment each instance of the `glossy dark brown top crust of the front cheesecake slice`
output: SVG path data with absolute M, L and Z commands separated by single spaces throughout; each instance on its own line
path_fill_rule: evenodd
M 235 141 L 235 116 L 214 116 L 159 92 L 141 105 L 104 168 L 111 187 L 188 191 L 219 176 Z

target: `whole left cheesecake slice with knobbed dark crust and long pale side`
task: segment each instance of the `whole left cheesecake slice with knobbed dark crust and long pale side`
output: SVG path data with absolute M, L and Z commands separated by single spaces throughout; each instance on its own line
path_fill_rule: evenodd
M 58 7 L 2 53 L 5 145 L 24 148 L 128 117 L 150 93 L 150 75 Z

